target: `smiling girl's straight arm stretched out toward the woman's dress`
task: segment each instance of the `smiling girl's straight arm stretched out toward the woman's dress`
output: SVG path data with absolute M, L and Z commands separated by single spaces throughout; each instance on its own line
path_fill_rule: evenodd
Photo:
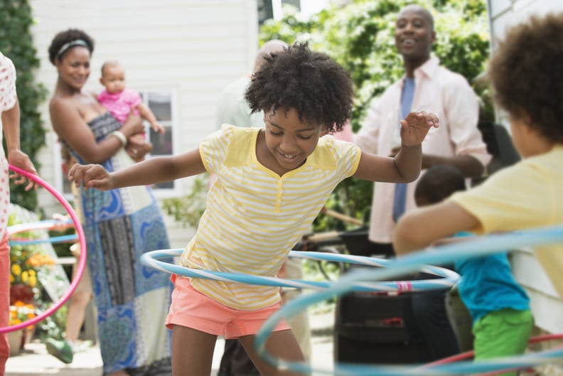
M 151 158 L 113 173 L 108 173 L 97 164 L 79 165 L 76 163 L 68 171 L 68 179 L 74 181 L 77 187 L 82 184 L 85 189 L 109 190 L 163 183 L 203 172 L 205 172 L 205 166 L 201 161 L 199 150 L 195 149 L 179 156 Z

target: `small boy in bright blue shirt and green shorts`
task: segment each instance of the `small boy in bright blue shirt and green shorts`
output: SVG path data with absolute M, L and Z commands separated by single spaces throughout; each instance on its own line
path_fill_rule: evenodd
M 465 190 L 461 171 L 451 165 L 436 165 L 419 179 L 414 199 L 420 208 L 440 203 L 461 190 Z M 454 235 L 466 236 L 471 233 Z M 530 298 L 511 272 L 508 254 L 463 258 L 456 261 L 455 267 L 462 276 L 459 295 L 473 318 L 474 358 L 482 360 L 524 353 L 534 318 Z

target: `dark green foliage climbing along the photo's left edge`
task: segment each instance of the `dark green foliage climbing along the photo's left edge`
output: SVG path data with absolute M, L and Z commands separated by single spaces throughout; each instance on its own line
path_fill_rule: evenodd
M 45 100 L 47 90 L 43 85 L 37 85 L 34 77 L 40 63 L 30 32 L 33 24 L 31 6 L 27 0 L 1 0 L 0 4 L 0 51 L 16 65 L 16 90 L 21 110 L 21 149 L 39 169 L 36 154 L 45 145 L 45 130 L 38 107 Z M 25 192 L 24 186 L 16 186 L 11 182 L 10 194 L 11 202 L 28 210 L 36 209 L 35 190 Z

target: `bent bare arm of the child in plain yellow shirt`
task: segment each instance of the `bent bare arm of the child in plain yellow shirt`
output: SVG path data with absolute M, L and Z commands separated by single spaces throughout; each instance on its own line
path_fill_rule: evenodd
M 460 231 L 476 230 L 480 222 L 454 201 L 446 200 L 406 213 L 393 233 L 397 254 L 414 252 Z

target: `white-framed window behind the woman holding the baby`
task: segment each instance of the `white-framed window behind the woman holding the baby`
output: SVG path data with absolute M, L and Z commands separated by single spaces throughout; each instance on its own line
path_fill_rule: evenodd
M 146 155 L 146 159 L 152 156 L 167 156 L 173 155 L 176 151 L 174 140 L 178 140 L 176 133 L 178 132 L 178 117 L 176 116 L 176 99 L 172 90 L 151 91 L 146 90 L 141 92 L 143 102 L 149 106 L 154 113 L 156 119 L 164 127 L 165 132 L 160 134 L 151 129 L 149 122 L 145 123 L 146 139 L 153 144 L 151 154 Z M 66 179 L 66 171 L 64 170 L 64 161 L 61 157 L 61 146 L 59 142 L 55 143 L 55 161 L 61 168 L 58 170 L 59 191 L 65 194 L 65 197 L 72 200 L 72 193 L 70 191 L 70 184 Z M 154 194 L 157 198 L 171 197 L 178 195 L 178 187 L 174 181 L 160 183 L 152 186 Z

